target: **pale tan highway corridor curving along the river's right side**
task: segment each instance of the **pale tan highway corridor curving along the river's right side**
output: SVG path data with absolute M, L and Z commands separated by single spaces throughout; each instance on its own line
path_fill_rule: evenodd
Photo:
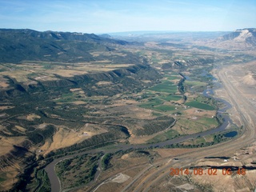
M 198 149 L 197 152 L 192 154 L 182 154 L 178 157 L 181 159 L 180 161 L 170 161 L 170 158 L 163 159 L 162 162 L 154 164 L 154 166 L 159 166 L 158 170 L 154 172 L 151 171 L 149 174 L 146 173 L 149 172 L 148 170 L 143 170 L 139 173 L 139 175 L 143 175 L 143 177 L 135 177 L 122 191 L 148 191 L 151 186 L 158 186 L 159 181 L 170 173 L 170 167 L 189 167 L 191 163 L 205 158 L 206 156 L 232 155 L 235 150 L 255 142 L 256 109 L 251 105 L 241 90 L 238 90 L 234 87 L 234 83 L 231 83 L 238 81 L 236 77 L 230 75 L 230 72 L 237 67 L 239 68 L 241 66 L 225 67 L 222 70 L 218 70 L 217 75 L 229 96 L 232 106 L 238 111 L 245 129 L 242 136 L 230 142 Z

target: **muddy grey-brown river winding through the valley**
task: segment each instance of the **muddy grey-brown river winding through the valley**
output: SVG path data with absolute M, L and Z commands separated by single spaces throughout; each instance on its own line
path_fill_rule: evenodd
M 219 88 L 221 86 L 221 84 L 216 83 L 216 88 Z M 206 97 L 212 97 L 210 94 L 214 94 L 214 90 L 212 89 L 207 89 L 204 90 L 202 93 L 204 96 Z M 230 109 L 232 106 L 230 105 L 229 102 L 226 102 L 224 99 L 222 98 L 214 98 L 217 99 L 220 102 L 223 102 L 225 104 L 225 107 L 223 107 L 222 109 L 217 110 L 218 114 L 222 114 L 223 112 L 226 112 L 226 110 Z M 198 133 L 198 134 L 190 134 L 190 135 L 186 135 L 186 136 L 182 136 L 180 138 L 174 138 L 165 142 L 158 142 L 158 143 L 154 143 L 154 144 L 144 144 L 144 145 L 125 145 L 125 144 L 117 144 L 115 145 L 114 149 L 111 150 L 104 150 L 104 153 L 114 153 L 118 150 L 129 150 L 129 149 L 142 149 L 142 148 L 150 148 L 150 147 L 161 147 L 161 146 L 167 146 L 167 145 L 171 145 L 171 144 L 175 144 L 178 142 L 184 142 L 188 139 L 191 138 L 197 138 L 197 137 L 202 137 L 202 136 L 206 136 L 209 134 L 214 134 L 218 131 L 222 131 L 225 130 L 226 126 L 229 125 L 229 122 L 232 123 L 230 117 L 228 115 L 223 115 L 222 114 L 222 118 L 224 119 L 224 122 L 222 123 L 221 126 L 218 126 L 217 128 L 213 129 L 213 130 L 206 130 L 204 132 Z M 99 153 L 102 150 L 99 149 L 95 149 L 95 150 L 88 150 L 86 152 L 82 152 L 82 153 L 78 153 L 78 154 L 72 154 L 72 155 L 67 155 L 65 157 L 62 158 L 56 158 L 54 159 L 54 162 L 51 162 L 48 166 L 46 166 L 45 170 L 46 173 L 48 174 L 48 177 L 50 179 L 50 186 L 51 186 L 51 191 L 53 192 L 58 192 L 61 190 L 61 186 L 60 186 L 60 182 L 58 181 L 58 177 L 54 171 L 54 166 L 58 163 L 61 162 L 62 160 L 66 159 L 66 158 L 73 158 L 74 156 L 77 155 L 82 155 L 82 154 L 86 154 L 86 153 Z M 99 162 L 100 163 L 100 162 Z M 98 174 L 100 174 L 101 170 L 98 170 L 96 175 L 98 177 Z

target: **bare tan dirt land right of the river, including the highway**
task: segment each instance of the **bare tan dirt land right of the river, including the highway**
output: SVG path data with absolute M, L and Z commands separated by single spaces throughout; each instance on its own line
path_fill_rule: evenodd
M 250 63 L 247 64 L 250 66 Z M 222 71 L 218 71 L 226 90 L 217 90 L 215 95 L 225 98 L 232 103 L 234 107 L 228 111 L 230 118 L 234 122 L 245 126 L 244 135 L 234 141 L 221 143 L 217 146 L 209 146 L 193 150 L 181 149 L 158 149 L 158 158 L 154 166 L 158 169 L 141 170 L 133 180 L 130 181 L 122 191 L 170 191 L 173 190 L 194 190 L 206 191 L 210 187 L 214 191 L 252 191 L 256 186 L 256 170 L 246 170 L 246 175 L 238 175 L 235 172 L 232 175 L 223 175 L 222 170 L 218 170 L 218 176 L 197 175 L 190 177 L 169 177 L 170 167 L 185 168 L 190 166 L 255 166 L 251 162 L 256 160 L 255 144 L 255 89 L 250 85 L 240 81 L 248 73 L 248 66 L 241 70 L 241 66 L 226 66 Z M 232 86 L 230 85 L 232 83 Z M 233 89 L 235 87 L 235 89 Z M 190 114 L 193 110 L 190 110 Z M 206 115 L 210 115 L 207 114 Z M 197 116 L 194 114 L 194 116 Z M 239 125 L 238 124 L 238 125 Z M 207 139 L 207 138 L 206 138 Z M 127 156 L 127 155 L 126 155 Z M 223 159 L 206 159 L 205 157 L 227 156 L 230 157 L 227 162 Z M 128 157 L 128 156 L 127 156 Z M 126 157 L 126 158 L 127 158 Z M 174 159 L 177 158 L 176 160 Z M 125 158 L 125 157 L 123 157 Z M 163 159 L 163 160 L 162 160 Z M 255 167 L 256 168 L 256 167 Z M 178 190 L 179 191 L 179 190 Z

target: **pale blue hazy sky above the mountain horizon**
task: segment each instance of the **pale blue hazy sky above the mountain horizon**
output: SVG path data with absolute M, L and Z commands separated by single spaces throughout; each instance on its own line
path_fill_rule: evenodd
M 256 28 L 256 0 L 0 0 L 0 28 L 104 34 Z

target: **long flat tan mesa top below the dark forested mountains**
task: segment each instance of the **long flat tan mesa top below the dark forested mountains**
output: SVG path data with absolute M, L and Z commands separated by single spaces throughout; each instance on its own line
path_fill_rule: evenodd
M 110 64 L 110 61 L 80 62 L 70 65 L 70 63 L 54 62 L 23 62 L 22 64 L 8 63 L 7 70 L 0 72 L 0 87 L 6 88 L 8 82 L 2 76 L 6 75 L 23 82 L 26 85 L 37 83 L 30 78 L 38 81 L 58 80 L 55 74 L 62 77 L 73 77 L 74 75 L 88 74 L 99 71 L 110 71 L 122 67 L 133 66 L 134 64 Z

